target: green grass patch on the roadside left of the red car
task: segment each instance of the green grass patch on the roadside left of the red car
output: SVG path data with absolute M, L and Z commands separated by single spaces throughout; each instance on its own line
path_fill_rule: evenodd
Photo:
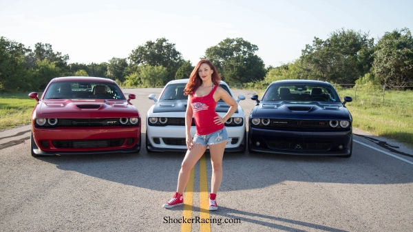
M 29 93 L 0 94 L 0 129 L 30 123 L 36 100 Z

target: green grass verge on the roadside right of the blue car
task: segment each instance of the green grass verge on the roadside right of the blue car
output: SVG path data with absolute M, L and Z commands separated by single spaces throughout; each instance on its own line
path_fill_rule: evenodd
M 337 89 L 341 99 L 352 96 L 346 103 L 353 117 L 353 127 L 393 138 L 413 146 L 413 92 L 385 91 L 383 89 Z M 355 98 L 354 98 L 355 95 Z

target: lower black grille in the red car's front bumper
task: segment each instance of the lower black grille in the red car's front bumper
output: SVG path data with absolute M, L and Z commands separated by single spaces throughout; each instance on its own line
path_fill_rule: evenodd
M 94 148 L 94 147 L 120 147 L 125 139 L 107 140 L 52 140 L 56 148 Z

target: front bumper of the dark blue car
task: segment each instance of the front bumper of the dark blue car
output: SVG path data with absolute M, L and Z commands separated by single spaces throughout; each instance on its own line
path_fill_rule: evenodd
M 339 146 L 343 146 L 339 149 Z M 352 152 L 352 129 L 348 131 L 248 130 L 248 150 L 273 154 L 346 156 Z

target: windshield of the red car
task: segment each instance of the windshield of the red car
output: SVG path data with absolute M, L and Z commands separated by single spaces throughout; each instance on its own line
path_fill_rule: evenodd
M 125 97 L 114 83 L 67 81 L 50 84 L 44 99 L 125 100 Z

